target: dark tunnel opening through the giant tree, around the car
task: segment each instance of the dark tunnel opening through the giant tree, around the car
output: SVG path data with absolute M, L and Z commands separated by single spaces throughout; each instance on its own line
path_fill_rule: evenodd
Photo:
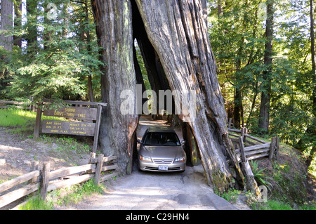
M 143 23 L 143 19 L 141 18 L 140 12 L 138 11 L 138 6 L 136 5 L 136 1 L 131 1 L 132 5 L 132 26 L 133 26 L 133 60 L 136 71 L 136 81 L 137 84 L 142 86 L 142 94 L 146 90 L 152 90 L 154 93 L 157 93 L 157 101 L 156 107 L 152 108 L 152 110 L 156 110 L 152 112 L 152 116 L 147 116 L 147 118 L 152 121 L 162 121 L 166 120 L 166 122 L 180 129 L 181 137 L 185 140 L 185 153 L 187 154 L 187 165 L 194 166 L 201 164 L 199 150 L 197 148 L 197 144 L 195 138 L 193 136 L 192 130 L 188 124 L 182 122 L 178 115 L 175 114 L 175 103 L 174 96 L 172 97 L 172 109 L 167 110 L 167 96 L 163 95 L 164 99 L 159 99 L 159 90 L 162 91 L 171 91 L 169 81 L 166 78 L 166 74 L 164 72 L 164 68 L 162 66 L 162 62 L 159 59 L 157 52 L 152 46 L 150 39 L 147 36 L 147 32 L 145 30 L 145 25 Z M 147 92 L 148 93 L 148 92 Z M 144 95 L 143 95 L 144 96 Z M 148 95 L 147 95 L 148 96 Z M 141 102 L 144 105 L 147 98 L 142 98 Z M 159 105 L 160 103 L 164 103 L 164 105 Z M 163 108 L 164 110 L 159 110 Z M 144 114 L 142 108 L 138 108 L 138 114 Z M 141 111 L 139 111 L 141 110 Z M 138 124 L 138 127 L 140 124 Z M 181 138 L 180 137 L 180 138 Z M 135 136 L 134 145 L 133 145 L 133 166 L 138 161 L 138 150 L 139 143 L 137 143 L 137 138 L 139 136 Z

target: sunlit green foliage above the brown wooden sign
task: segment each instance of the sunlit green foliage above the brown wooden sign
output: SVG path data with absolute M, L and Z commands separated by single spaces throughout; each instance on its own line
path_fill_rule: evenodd
M 22 48 L 15 46 L 9 54 L 6 52 L 11 60 L 0 63 L 1 70 L 6 71 L 1 93 L 15 100 L 29 97 L 35 101 L 84 100 L 88 99 L 88 76 L 91 76 L 95 99 L 100 99 L 100 48 L 91 12 L 86 14 L 84 2 L 50 1 L 57 6 L 55 19 L 48 17 L 47 2 L 27 3 L 27 22 L 13 30 L 15 37 L 26 37 L 27 44 Z M 20 23 L 21 18 L 15 18 L 15 22 Z M 3 54 L 0 51 L 0 56 Z

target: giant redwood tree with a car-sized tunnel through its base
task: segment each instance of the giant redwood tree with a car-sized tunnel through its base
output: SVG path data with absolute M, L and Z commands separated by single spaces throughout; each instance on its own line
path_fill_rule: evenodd
M 224 99 L 204 20 L 205 1 L 91 2 L 103 48 L 102 96 L 109 105 L 104 108 L 100 127 L 103 152 L 117 155 L 121 169 L 129 171 L 138 125 L 136 84 L 140 81 L 133 57 L 137 39 L 154 90 L 196 93 L 195 103 L 189 101 L 182 108 L 190 112 L 187 125 L 195 137 L 209 185 L 220 191 L 232 183 L 242 186 L 244 178 L 228 137 Z M 129 96 L 129 113 L 122 113 L 126 90 L 134 94 Z M 182 114 L 179 117 L 183 119 Z

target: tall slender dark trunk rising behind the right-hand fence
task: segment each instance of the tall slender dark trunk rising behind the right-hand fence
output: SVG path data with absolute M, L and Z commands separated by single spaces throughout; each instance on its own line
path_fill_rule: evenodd
M 263 72 L 263 86 L 261 93 L 261 105 L 259 114 L 259 129 L 263 133 L 269 131 L 270 98 L 271 98 L 271 71 L 272 71 L 272 51 L 273 51 L 273 9 L 274 0 L 268 0 L 267 20 L 265 25 L 265 56 L 264 64 L 266 66 Z

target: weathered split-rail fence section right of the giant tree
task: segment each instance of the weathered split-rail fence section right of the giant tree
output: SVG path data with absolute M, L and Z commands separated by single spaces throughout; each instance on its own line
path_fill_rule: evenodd
M 246 128 L 228 129 L 232 143 L 235 145 L 238 162 L 246 162 L 261 157 L 272 159 L 279 156 L 279 137 L 272 137 L 271 143 L 250 136 Z M 236 134 L 236 133 L 239 133 Z

